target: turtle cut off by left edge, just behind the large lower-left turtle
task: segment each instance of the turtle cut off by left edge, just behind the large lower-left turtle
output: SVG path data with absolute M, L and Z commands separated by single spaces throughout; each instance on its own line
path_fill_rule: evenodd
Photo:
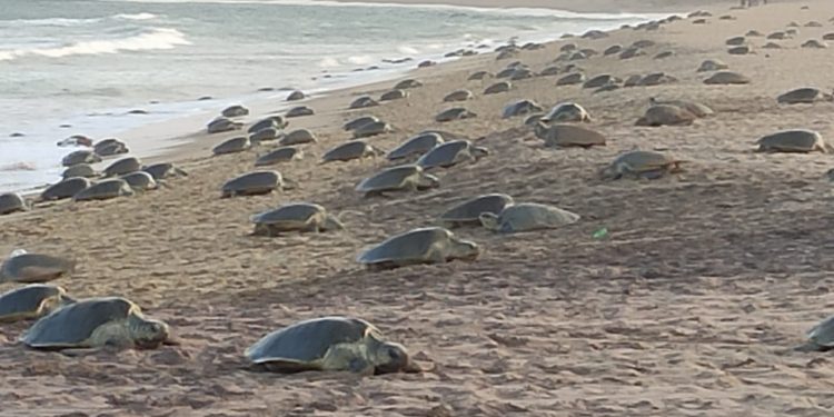
M 38 319 L 72 302 L 61 287 L 30 284 L 0 295 L 0 322 Z

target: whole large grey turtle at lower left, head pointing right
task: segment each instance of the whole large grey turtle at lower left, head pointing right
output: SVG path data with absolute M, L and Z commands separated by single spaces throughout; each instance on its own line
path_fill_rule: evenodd
M 20 341 L 34 349 L 80 353 L 83 349 L 153 349 L 170 342 L 162 321 L 142 315 L 139 306 L 122 297 L 88 298 L 66 305 L 42 317 Z

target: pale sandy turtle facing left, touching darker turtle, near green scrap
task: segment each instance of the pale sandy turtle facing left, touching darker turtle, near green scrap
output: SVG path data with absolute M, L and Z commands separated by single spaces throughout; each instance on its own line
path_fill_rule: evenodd
M 579 220 L 579 215 L 538 202 L 509 205 L 499 214 L 481 212 L 481 226 L 502 234 L 555 229 Z

